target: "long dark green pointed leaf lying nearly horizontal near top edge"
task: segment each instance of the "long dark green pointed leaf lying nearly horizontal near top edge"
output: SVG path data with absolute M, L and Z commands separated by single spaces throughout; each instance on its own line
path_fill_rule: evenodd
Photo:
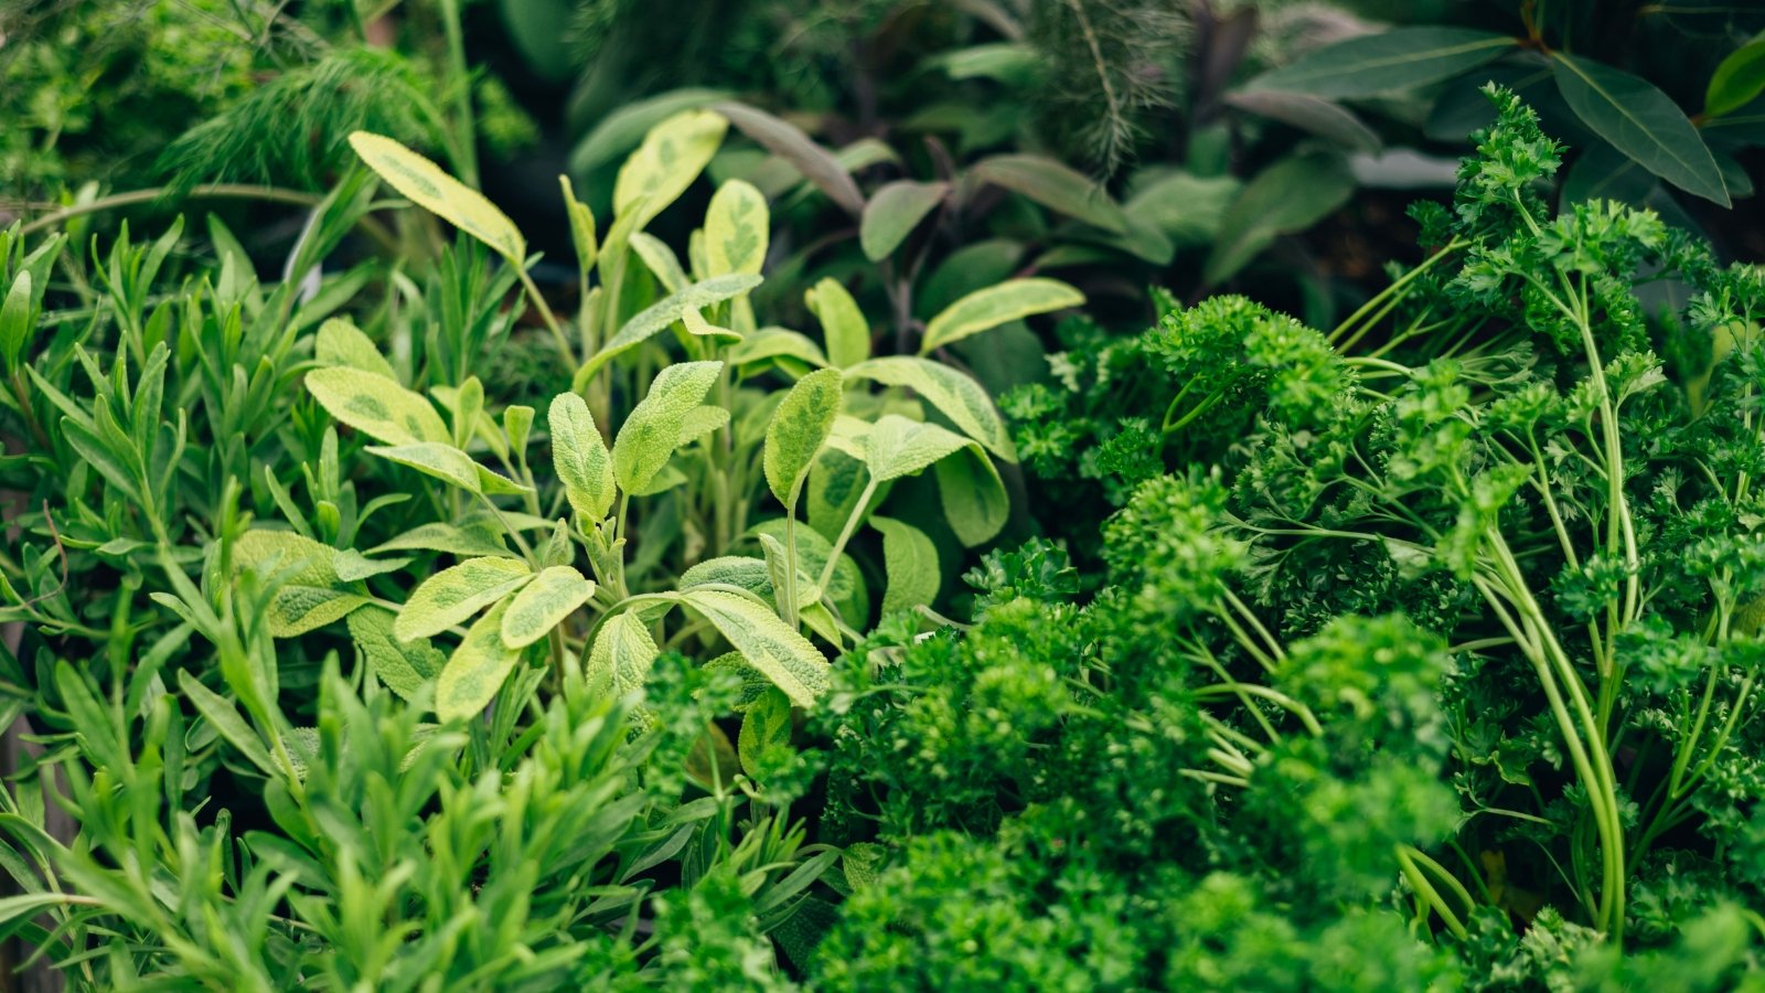
M 1313 97 L 1370 97 L 1449 80 L 1495 62 L 1516 48 L 1511 35 L 1472 28 L 1393 28 L 1352 37 L 1264 72 L 1257 90 L 1292 90 Z

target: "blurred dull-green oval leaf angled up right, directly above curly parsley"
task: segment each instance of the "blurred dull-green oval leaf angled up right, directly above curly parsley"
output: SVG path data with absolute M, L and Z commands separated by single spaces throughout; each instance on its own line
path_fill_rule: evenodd
M 1257 173 L 1227 207 L 1221 239 L 1202 277 L 1209 284 L 1230 279 L 1269 247 L 1276 237 L 1310 228 L 1341 207 L 1354 193 L 1354 173 L 1336 155 L 1294 155 Z

